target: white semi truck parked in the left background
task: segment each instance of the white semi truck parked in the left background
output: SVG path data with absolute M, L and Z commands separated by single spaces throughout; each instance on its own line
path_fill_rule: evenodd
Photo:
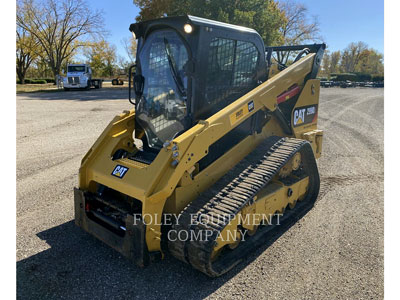
M 64 90 L 70 89 L 99 89 L 103 85 L 103 79 L 93 79 L 92 69 L 87 64 L 67 65 L 67 76 L 63 79 Z

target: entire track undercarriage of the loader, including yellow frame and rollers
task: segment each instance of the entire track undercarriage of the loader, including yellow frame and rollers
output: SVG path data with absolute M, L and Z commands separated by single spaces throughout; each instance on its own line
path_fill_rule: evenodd
M 220 276 L 307 213 L 318 191 L 310 144 L 270 137 L 182 211 L 169 250 L 208 276 Z

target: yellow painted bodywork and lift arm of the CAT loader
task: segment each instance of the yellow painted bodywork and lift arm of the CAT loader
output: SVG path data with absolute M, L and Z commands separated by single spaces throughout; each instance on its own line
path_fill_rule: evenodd
M 206 169 L 198 172 L 197 163 L 207 155 L 211 144 L 257 111 L 273 112 L 277 107 L 277 96 L 293 84 L 302 88 L 296 107 L 318 104 L 319 80 L 308 80 L 304 86 L 304 78 L 311 72 L 314 56 L 314 53 L 308 54 L 207 120 L 200 121 L 171 141 L 171 144 L 162 149 L 150 165 L 127 158 L 114 161 L 111 159 L 112 153 L 117 149 L 122 148 L 129 152 L 138 151 L 133 140 L 135 111 L 132 109 L 116 116 L 82 159 L 79 170 L 79 188 L 94 192 L 97 184 L 102 184 L 141 201 L 142 215 L 144 221 L 147 221 L 146 244 L 148 250 L 161 251 L 160 224 L 163 213 L 179 213 L 199 193 L 226 174 L 266 137 L 285 136 L 285 134 L 272 115 L 261 133 L 248 136 Z M 248 109 L 249 101 L 254 103 L 251 111 Z M 322 131 L 317 129 L 316 122 L 304 126 L 292 126 L 292 129 L 294 133 L 292 137 L 310 141 L 315 156 L 319 157 L 322 149 Z M 177 147 L 179 153 L 177 157 L 179 163 L 175 167 L 171 165 L 172 147 Z M 129 168 L 129 172 L 122 179 L 111 176 L 111 172 L 117 165 Z M 293 190 L 298 195 L 302 195 L 305 193 L 304 185 L 306 183 L 300 181 L 298 184 L 296 183 Z M 246 207 L 242 213 L 258 211 L 259 206 L 269 207 L 274 204 L 273 199 L 278 199 L 280 202 L 290 201 L 290 199 L 284 198 L 276 193 L 260 195 L 259 200 L 253 206 Z

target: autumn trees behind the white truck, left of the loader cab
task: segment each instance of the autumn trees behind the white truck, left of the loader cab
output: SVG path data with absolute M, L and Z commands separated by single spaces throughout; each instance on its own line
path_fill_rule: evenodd
M 27 75 L 56 78 L 68 63 L 84 61 L 95 76 L 106 77 L 134 61 L 136 41 L 121 41 L 129 60 L 118 56 L 106 39 L 103 12 L 87 0 L 17 0 L 16 22 L 16 73 L 22 84 Z

